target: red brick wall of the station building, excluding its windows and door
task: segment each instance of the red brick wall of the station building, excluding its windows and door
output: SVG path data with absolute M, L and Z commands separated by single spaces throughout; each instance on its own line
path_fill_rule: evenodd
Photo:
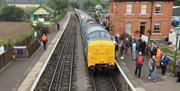
M 126 5 L 132 3 L 133 15 L 126 15 Z M 147 15 L 141 14 L 141 4 L 147 5 Z M 168 36 L 171 28 L 171 16 L 173 2 L 161 2 L 162 4 L 162 15 L 155 14 L 155 4 L 160 2 L 154 2 L 153 5 L 153 16 L 152 16 L 152 31 L 154 31 L 155 21 L 160 21 L 160 33 L 152 33 L 151 38 L 159 39 Z M 121 34 L 125 31 L 126 22 L 132 22 L 132 34 L 138 36 L 139 33 L 135 31 L 140 30 L 140 22 L 146 22 L 145 35 L 149 35 L 150 30 L 150 19 L 151 16 L 151 2 L 110 2 L 110 30 L 114 33 Z

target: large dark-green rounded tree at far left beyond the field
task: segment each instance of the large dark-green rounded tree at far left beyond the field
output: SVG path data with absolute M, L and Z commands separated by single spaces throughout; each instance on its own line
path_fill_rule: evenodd
M 22 21 L 25 12 L 23 9 L 15 6 L 6 6 L 0 14 L 0 21 Z

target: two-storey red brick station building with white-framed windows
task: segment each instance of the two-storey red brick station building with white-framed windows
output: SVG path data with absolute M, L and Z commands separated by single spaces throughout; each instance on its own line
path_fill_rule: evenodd
M 114 33 L 166 38 L 171 29 L 173 0 L 110 0 L 110 30 Z M 152 19 L 151 19 L 152 18 Z

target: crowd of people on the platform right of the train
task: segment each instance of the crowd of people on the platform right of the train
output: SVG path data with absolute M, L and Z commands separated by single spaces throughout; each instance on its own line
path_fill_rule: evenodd
M 129 55 L 128 50 L 130 49 L 132 60 L 136 61 L 135 75 L 138 73 L 138 78 L 141 77 L 141 69 L 143 66 L 145 50 L 147 49 L 147 43 L 141 38 L 136 40 L 135 38 L 128 38 L 128 36 L 123 35 L 122 40 L 119 40 L 119 37 L 115 35 L 114 37 L 116 43 L 116 52 L 120 56 L 120 59 L 125 59 L 124 55 Z M 170 63 L 169 58 L 165 53 L 161 52 L 159 46 L 155 43 L 151 43 L 149 48 L 150 58 L 148 62 L 149 66 L 149 75 L 148 79 L 153 82 L 157 81 L 157 68 L 161 68 L 161 75 L 166 77 L 167 65 Z M 177 58 L 176 62 L 176 72 L 178 80 L 180 82 L 180 58 Z

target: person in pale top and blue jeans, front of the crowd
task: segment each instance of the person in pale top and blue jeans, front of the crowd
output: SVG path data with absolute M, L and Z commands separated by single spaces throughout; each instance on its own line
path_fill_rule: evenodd
M 149 60 L 149 69 L 150 69 L 149 79 L 156 82 L 157 69 L 156 69 L 156 56 L 155 55 L 153 55 L 152 58 L 150 58 Z

